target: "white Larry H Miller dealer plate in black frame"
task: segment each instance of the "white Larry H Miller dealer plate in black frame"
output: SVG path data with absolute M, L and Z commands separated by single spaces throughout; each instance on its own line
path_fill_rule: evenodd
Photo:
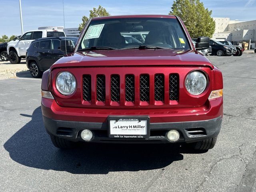
M 149 137 L 149 118 L 108 118 L 108 126 L 110 138 Z

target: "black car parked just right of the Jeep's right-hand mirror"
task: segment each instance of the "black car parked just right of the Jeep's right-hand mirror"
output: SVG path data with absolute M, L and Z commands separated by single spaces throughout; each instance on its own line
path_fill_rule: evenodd
M 212 47 L 212 54 L 217 56 L 231 56 L 236 53 L 236 48 L 229 45 L 224 45 L 221 42 L 210 39 L 210 46 Z

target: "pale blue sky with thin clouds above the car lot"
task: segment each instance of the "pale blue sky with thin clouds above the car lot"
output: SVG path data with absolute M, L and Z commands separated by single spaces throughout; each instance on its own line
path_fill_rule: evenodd
M 212 17 L 256 20 L 256 0 L 201 0 Z M 65 27 L 76 28 L 82 16 L 99 5 L 110 15 L 168 14 L 173 0 L 64 0 Z M 19 0 L 0 0 L 0 36 L 20 35 Z M 64 26 L 62 0 L 21 0 L 24 32 L 42 26 Z

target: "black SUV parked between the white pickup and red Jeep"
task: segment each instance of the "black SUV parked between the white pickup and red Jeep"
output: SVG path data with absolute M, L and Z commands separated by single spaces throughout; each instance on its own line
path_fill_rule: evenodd
M 65 37 L 40 38 L 33 41 L 26 52 L 26 64 L 32 77 L 40 78 L 59 58 L 66 53 L 60 50 L 60 41 Z M 77 37 L 66 37 L 76 45 Z

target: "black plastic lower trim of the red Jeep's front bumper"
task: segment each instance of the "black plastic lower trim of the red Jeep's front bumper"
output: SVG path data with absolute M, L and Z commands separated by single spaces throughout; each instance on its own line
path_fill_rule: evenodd
M 80 132 L 84 129 L 89 129 L 94 134 L 94 137 L 90 142 L 111 143 L 170 142 L 166 138 L 166 134 L 172 129 L 180 132 L 180 139 L 177 142 L 196 142 L 218 136 L 222 123 L 221 116 L 203 121 L 150 123 L 149 138 L 143 138 L 140 140 L 123 140 L 108 137 L 107 123 L 54 120 L 45 116 L 43 116 L 43 120 L 48 134 L 66 138 L 67 140 L 72 141 L 84 141 L 82 138 L 80 138 Z

